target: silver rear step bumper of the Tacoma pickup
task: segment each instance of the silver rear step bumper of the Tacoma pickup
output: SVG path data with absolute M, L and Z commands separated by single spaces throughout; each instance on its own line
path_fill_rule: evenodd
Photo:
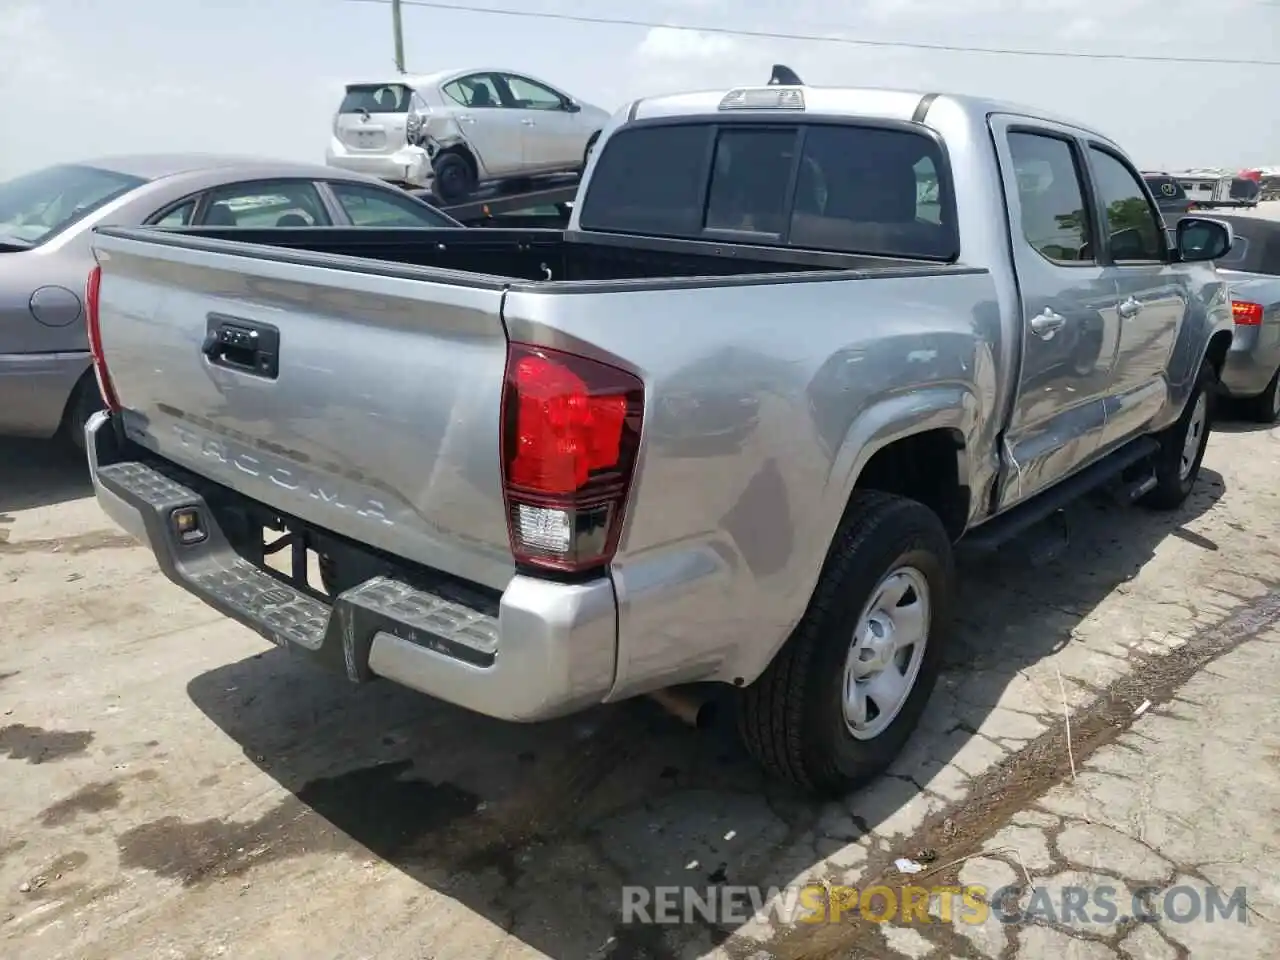
M 617 666 L 608 580 L 554 584 L 516 576 L 497 604 L 444 596 L 385 576 L 332 600 L 296 589 L 232 547 L 204 481 L 124 449 L 110 416 L 84 431 L 102 509 L 147 544 L 172 581 L 278 646 L 355 682 L 384 677 L 477 713 L 540 721 L 600 703 Z M 218 499 L 237 494 L 216 488 Z M 200 511 L 202 541 L 173 532 L 179 508 Z M 451 591 L 452 594 L 452 591 Z

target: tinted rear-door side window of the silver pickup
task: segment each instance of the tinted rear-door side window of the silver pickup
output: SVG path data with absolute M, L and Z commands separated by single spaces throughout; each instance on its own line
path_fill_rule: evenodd
M 1057 264 L 1094 262 L 1092 223 L 1075 150 L 1047 133 L 1009 134 L 1023 237 Z

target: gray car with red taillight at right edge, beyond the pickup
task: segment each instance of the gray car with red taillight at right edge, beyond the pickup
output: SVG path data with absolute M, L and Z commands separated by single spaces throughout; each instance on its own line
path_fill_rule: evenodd
M 1280 223 L 1261 216 L 1219 216 L 1235 233 L 1217 261 L 1230 285 L 1235 335 L 1222 369 L 1222 389 L 1265 424 L 1280 420 Z

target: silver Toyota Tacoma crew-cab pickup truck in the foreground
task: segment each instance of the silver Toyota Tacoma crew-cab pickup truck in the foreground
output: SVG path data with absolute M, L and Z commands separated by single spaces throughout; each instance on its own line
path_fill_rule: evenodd
M 640 100 L 563 232 L 100 228 L 93 484 L 352 681 L 526 722 L 721 690 L 842 791 L 929 698 L 954 544 L 1187 497 L 1230 244 L 1016 106 Z

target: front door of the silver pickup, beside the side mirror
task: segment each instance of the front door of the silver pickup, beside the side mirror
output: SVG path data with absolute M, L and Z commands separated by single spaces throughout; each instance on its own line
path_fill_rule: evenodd
M 1103 227 L 1107 275 L 1119 291 L 1120 351 L 1116 355 L 1103 447 L 1142 433 L 1169 397 L 1165 371 L 1178 340 L 1190 291 L 1171 264 L 1160 212 L 1142 179 L 1119 154 L 1089 145 L 1089 169 Z

